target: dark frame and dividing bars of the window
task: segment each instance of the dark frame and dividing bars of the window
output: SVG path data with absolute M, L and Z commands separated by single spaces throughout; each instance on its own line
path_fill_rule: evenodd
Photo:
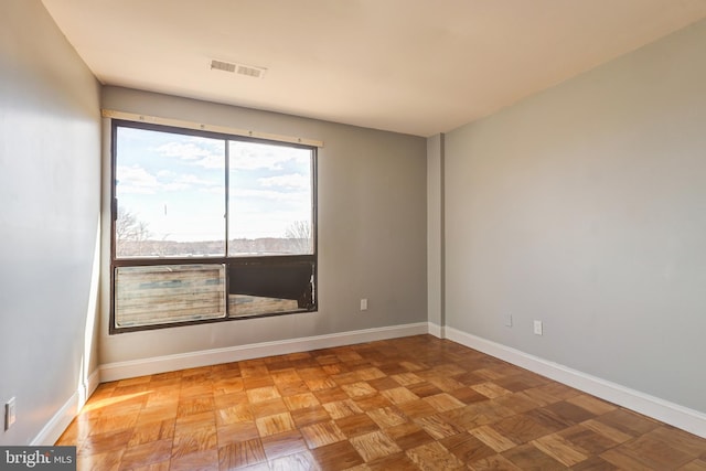
M 227 141 L 242 141 L 242 142 L 256 142 L 265 143 L 269 146 L 281 146 L 297 149 L 307 149 L 311 151 L 311 238 L 312 238 L 312 253 L 301 255 L 247 255 L 247 256 L 229 256 L 226 247 L 223 256 L 190 256 L 190 257 L 146 257 L 146 258 L 129 258 L 120 257 L 116 255 L 116 221 L 118 215 L 118 201 L 116 195 L 116 170 L 117 170 L 117 132 L 118 128 L 133 128 L 152 130 L 160 132 L 170 132 L 181 136 L 194 136 L 205 137 L 218 140 Z M 226 161 L 228 160 L 227 152 L 225 153 Z M 226 165 L 225 172 L 228 172 Z M 228 184 L 227 179 L 224 182 L 225 197 L 228 197 Z M 227 210 L 226 210 L 227 211 Z M 225 232 L 227 236 L 227 229 Z M 128 332 L 140 332 L 158 329 L 169 329 L 184 325 L 200 325 L 205 323 L 227 322 L 227 321 L 242 321 L 257 318 L 269 318 L 277 315 L 300 314 L 307 312 L 317 312 L 319 309 L 318 301 L 318 148 L 315 146 L 300 144 L 293 142 L 284 142 L 270 139 L 254 138 L 239 135 L 229 135 L 224 132 L 214 132 L 206 130 L 196 130 L 189 128 L 180 128 L 174 126 L 158 125 L 152 122 L 131 121 L 124 119 L 111 119 L 110 124 L 110 315 L 109 315 L 109 334 L 119 334 Z M 139 266 L 169 266 L 169 265 L 224 265 L 225 266 L 225 295 L 226 295 L 226 308 L 225 317 L 214 319 L 196 319 L 188 321 L 176 321 L 168 323 L 153 323 L 135 327 L 117 327 L 116 325 L 116 269 L 119 267 L 139 267 Z M 229 272 L 237 267 L 248 266 L 265 266 L 276 267 L 277 265 L 287 264 L 311 264 L 312 267 L 312 296 L 311 302 L 304 309 L 300 308 L 291 311 L 278 311 L 269 313 L 258 313 L 250 315 L 228 315 L 228 302 L 229 295 Z

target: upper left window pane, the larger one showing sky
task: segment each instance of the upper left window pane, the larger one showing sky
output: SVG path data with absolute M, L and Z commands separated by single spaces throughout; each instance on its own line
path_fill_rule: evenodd
M 225 254 L 225 141 L 117 128 L 116 257 Z

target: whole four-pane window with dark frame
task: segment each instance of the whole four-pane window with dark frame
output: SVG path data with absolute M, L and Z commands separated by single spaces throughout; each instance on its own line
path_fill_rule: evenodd
M 113 121 L 111 333 L 317 309 L 317 149 Z

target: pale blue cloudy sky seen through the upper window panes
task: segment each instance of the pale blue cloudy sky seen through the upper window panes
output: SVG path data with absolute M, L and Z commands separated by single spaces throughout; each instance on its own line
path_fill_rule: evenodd
M 118 128 L 116 195 L 153 239 L 223 239 L 224 140 Z M 311 220 L 311 151 L 231 141 L 229 238 L 282 237 Z

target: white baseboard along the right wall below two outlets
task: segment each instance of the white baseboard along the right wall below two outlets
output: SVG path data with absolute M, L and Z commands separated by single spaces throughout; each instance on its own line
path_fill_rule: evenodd
M 431 333 L 431 328 L 429 329 Z M 453 342 L 504 360 L 610 403 L 706 438 L 706 414 L 447 327 Z

